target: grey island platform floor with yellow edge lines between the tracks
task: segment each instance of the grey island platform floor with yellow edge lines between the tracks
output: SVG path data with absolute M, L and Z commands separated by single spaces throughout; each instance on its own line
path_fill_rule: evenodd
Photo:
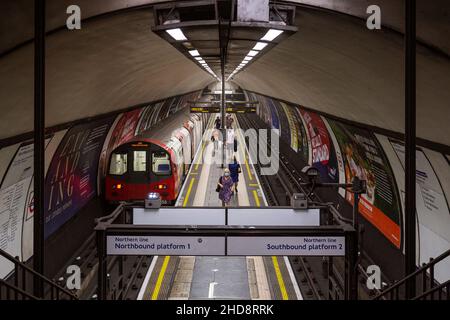
M 209 122 L 212 128 L 215 116 Z M 239 124 L 235 118 L 235 126 Z M 180 191 L 177 206 L 221 206 L 215 191 L 221 165 L 222 148 L 214 150 L 210 132 L 196 153 L 193 165 Z M 248 162 L 244 137 L 237 136 L 241 164 L 238 192 L 230 207 L 261 207 L 266 205 L 258 177 Z M 232 157 L 234 153 L 227 156 Z M 284 257 L 154 257 L 139 299 L 302 299 L 289 261 Z

